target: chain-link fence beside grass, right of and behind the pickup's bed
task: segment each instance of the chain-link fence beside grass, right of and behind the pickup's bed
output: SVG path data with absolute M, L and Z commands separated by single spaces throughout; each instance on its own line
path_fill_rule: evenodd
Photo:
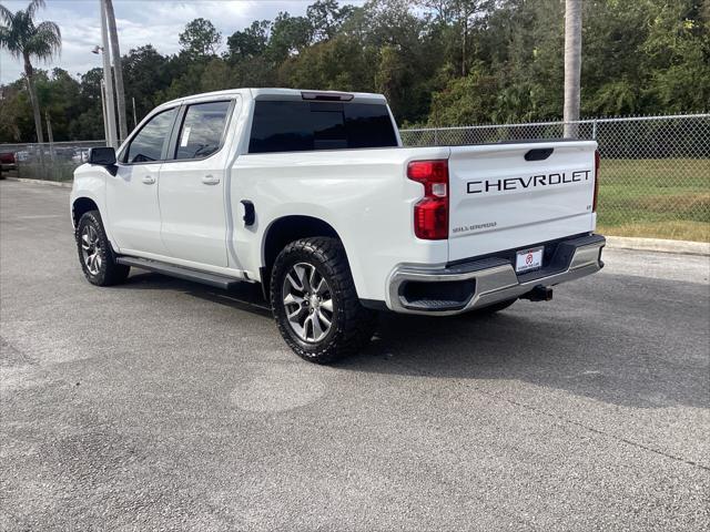
M 601 233 L 710 239 L 710 114 L 582 120 L 601 155 Z M 406 146 L 559 139 L 564 122 L 400 131 Z

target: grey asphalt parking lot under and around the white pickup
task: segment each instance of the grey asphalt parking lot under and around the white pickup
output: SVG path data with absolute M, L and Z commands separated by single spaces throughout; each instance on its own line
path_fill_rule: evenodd
M 248 289 L 89 285 L 68 196 L 0 183 L 0 529 L 710 526 L 708 257 L 609 250 L 318 367 Z

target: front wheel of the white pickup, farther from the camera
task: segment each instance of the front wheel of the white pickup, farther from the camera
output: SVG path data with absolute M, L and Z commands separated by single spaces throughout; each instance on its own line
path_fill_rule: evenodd
M 111 286 L 125 280 L 131 267 L 116 264 L 99 211 L 89 211 L 81 216 L 75 238 L 81 269 L 89 283 Z

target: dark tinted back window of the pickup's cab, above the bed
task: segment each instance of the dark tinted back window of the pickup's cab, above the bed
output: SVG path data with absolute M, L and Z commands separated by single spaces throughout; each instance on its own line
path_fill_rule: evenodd
M 384 104 L 257 101 L 248 152 L 396 145 L 397 137 Z

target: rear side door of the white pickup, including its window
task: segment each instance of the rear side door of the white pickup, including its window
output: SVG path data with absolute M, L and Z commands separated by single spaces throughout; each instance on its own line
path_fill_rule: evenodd
M 161 168 L 161 236 L 182 260 L 227 266 L 223 150 L 234 100 L 185 105 L 173 153 Z

